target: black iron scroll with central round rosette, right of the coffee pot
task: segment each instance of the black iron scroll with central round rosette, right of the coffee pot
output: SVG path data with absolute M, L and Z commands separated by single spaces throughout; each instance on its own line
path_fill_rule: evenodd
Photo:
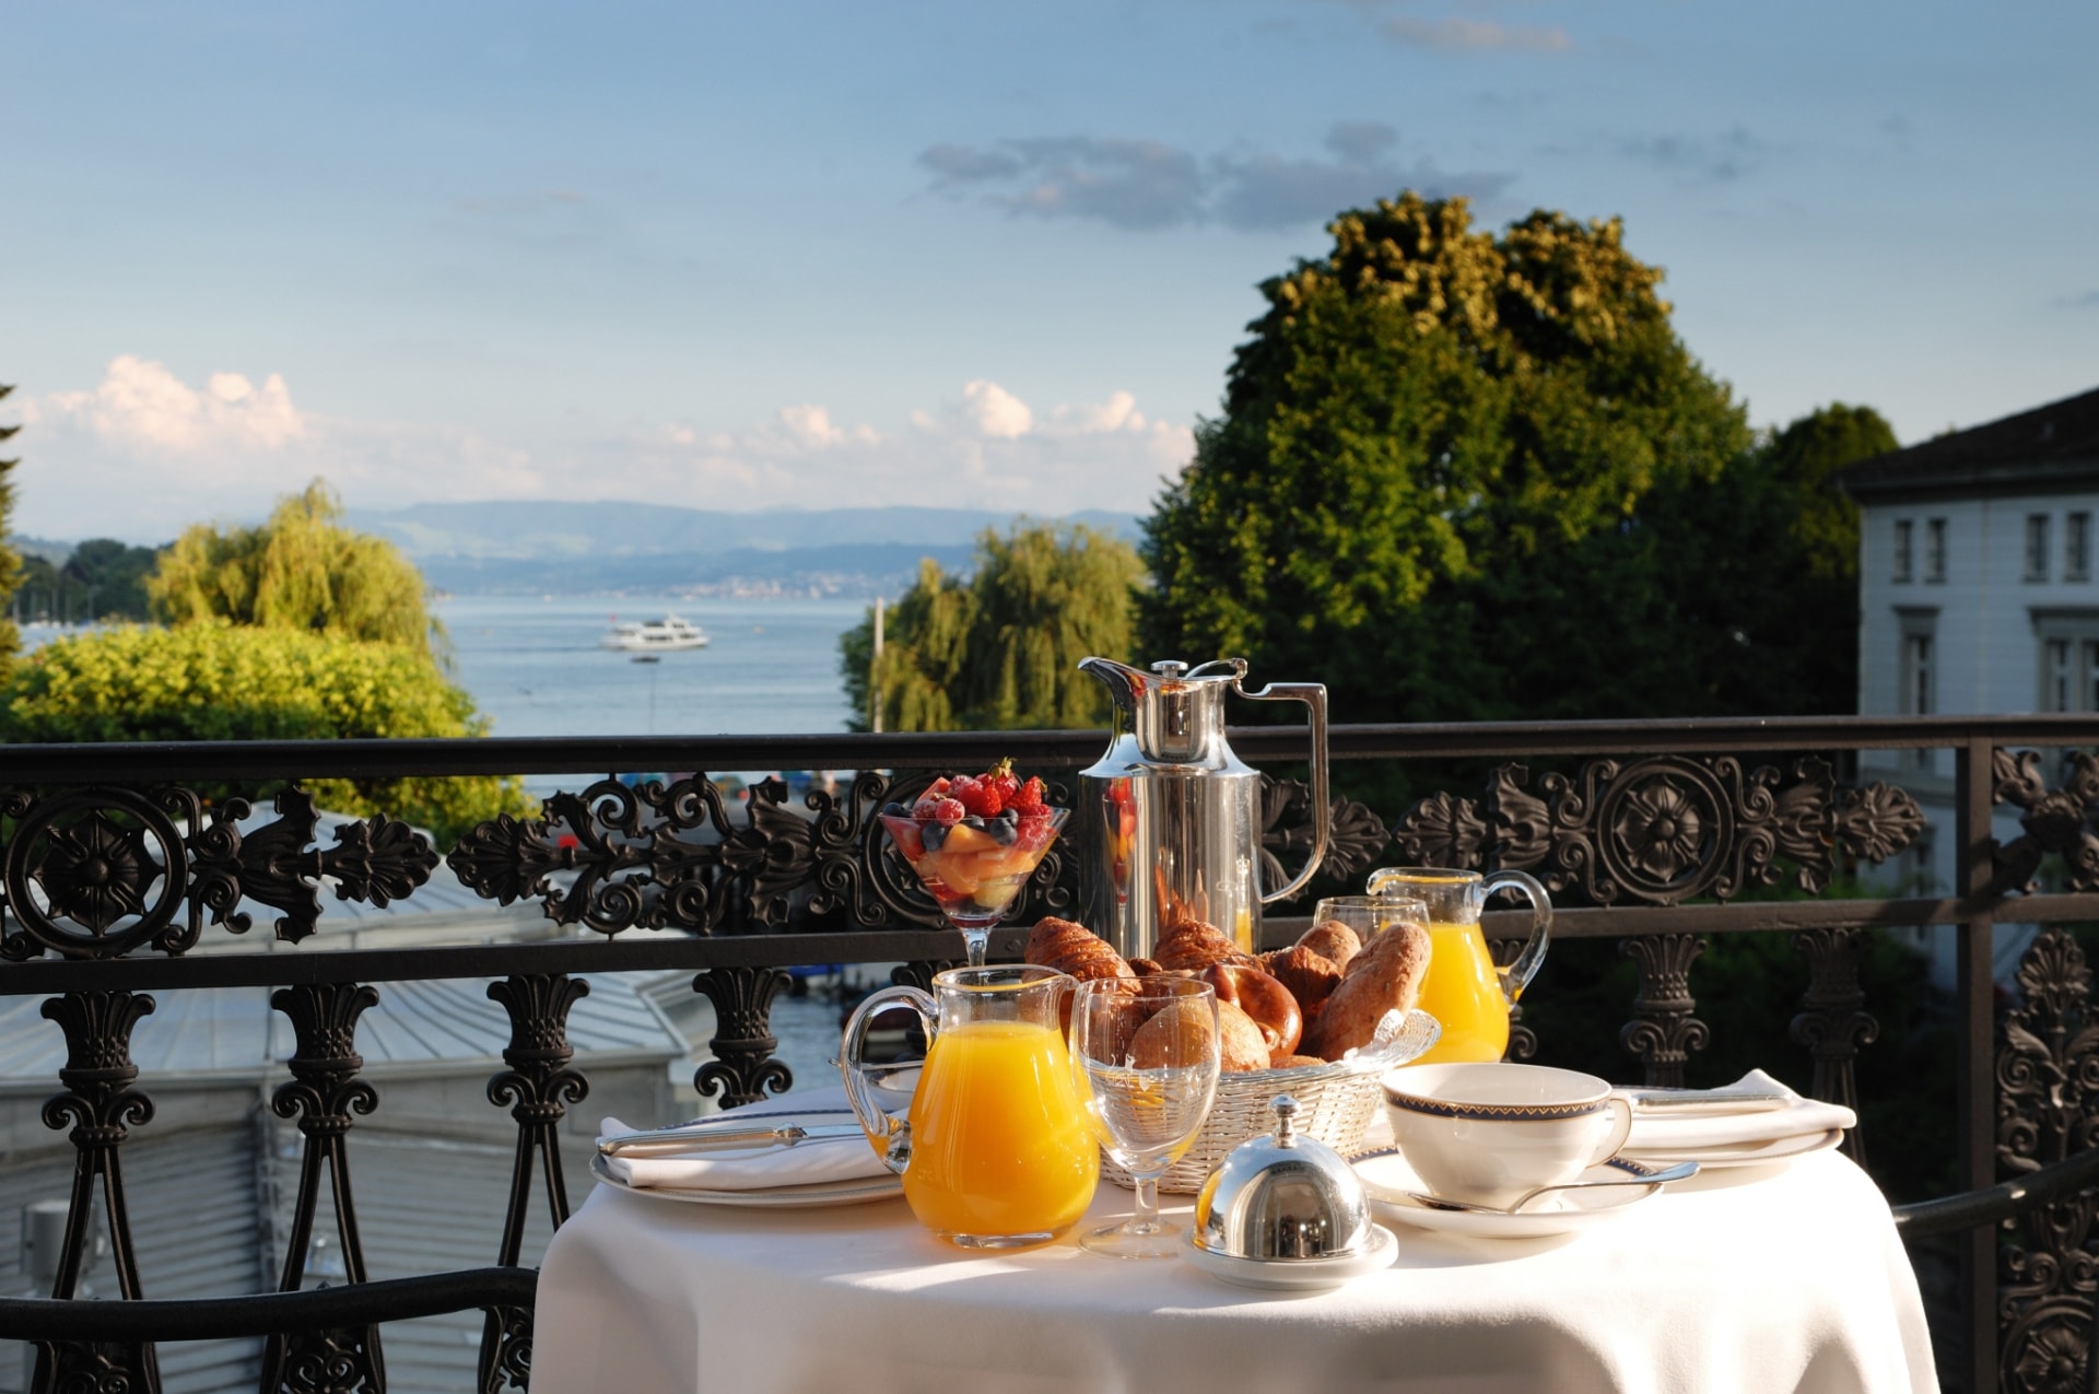
M 1820 892 L 1832 850 L 1885 861 L 1925 825 L 1908 791 L 1839 785 L 1811 756 L 1786 777 L 1732 756 L 1646 756 L 1547 775 L 1545 798 L 1528 781 L 1522 764 L 1497 768 L 1484 817 L 1471 800 L 1425 798 L 1394 842 L 1415 863 L 1532 871 L 1553 894 L 1576 890 L 1595 905 L 1679 905 L 1772 886 L 1786 863 L 1801 890 Z

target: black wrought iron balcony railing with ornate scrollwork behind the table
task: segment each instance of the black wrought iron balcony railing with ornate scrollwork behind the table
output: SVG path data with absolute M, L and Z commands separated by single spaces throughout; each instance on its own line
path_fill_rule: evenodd
M 1301 733 L 1247 728 L 1232 743 L 1249 760 L 1289 762 Z M 716 1014 L 699 1096 L 737 1104 L 781 1092 L 789 1069 L 770 1014 L 785 970 L 900 964 L 898 978 L 924 978 L 959 955 L 873 810 L 934 773 L 1001 756 L 1068 781 L 1102 745 L 1100 733 L 970 733 L 0 752 L 0 1001 L 42 997 L 42 1029 L 63 1035 L 42 1119 L 69 1129 L 73 1148 L 50 1295 L 0 1297 L 0 1337 L 36 1344 L 44 1390 L 153 1390 L 155 1344 L 222 1335 L 267 1337 L 267 1390 L 378 1390 L 384 1323 L 481 1310 L 479 1388 L 523 1388 L 531 1272 L 518 1260 L 535 1195 L 548 1222 L 569 1211 L 556 1134 L 590 1090 L 567 1037 L 588 974 L 695 974 Z M 1696 989 L 1711 936 L 1782 934 L 1797 951 L 1793 1041 L 1814 1060 L 1814 1092 L 1841 1102 L 1856 1100 L 1860 1052 L 1879 1031 L 1860 978 L 1870 930 L 1939 926 L 1956 964 L 1948 1136 L 1975 1195 L 1902 1218 L 1958 1243 L 1958 1316 L 1937 1331 L 1942 1363 L 1969 1390 L 2032 1388 L 2036 1371 L 2063 1373 L 2065 1360 L 2082 1381 L 2099 1018 L 2065 926 L 2099 922 L 2099 762 L 2076 754 L 2091 747 L 2099 718 L 2074 716 L 1337 726 L 1339 787 L 1402 779 L 1411 794 L 1394 808 L 1337 800 L 1329 880 L 1360 884 L 1390 863 L 1530 869 L 1566 903 L 1560 938 L 1625 945 L 1637 991 L 1618 1039 L 1652 1083 L 1681 1083 L 1709 1046 Z M 741 804 L 705 775 L 812 768 L 850 775 L 798 802 L 760 783 Z M 651 770 L 686 773 L 619 779 Z M 491 773 L 565 777 L 571 791 L 537 819 L 483 823 L 455 846 L 386 817 L 340 825 L 323 844 L 298 785 Z M 197 787 L 246 789 L 264 817 L 241 798 L 206 804 Z M 1301 785 L 1270 783 L 1266 838 L 1282 861 L 1303 844 L 1303 804 Z M 1893 867 L 1927 836 L 1950 848 L 1950 884 L 1860 890 L 1895 886 Z M 330 896 L 414 905 L 441 863 L 481 899 L 537 903 L 573 934 L 327 951 Z M 1014 920 L 1075 905 L 1077 848 L 1056 848 Z M 1992 957 L 2011 924 L 2042 932 L 2017 987 L 2000 991 Z M 1299 926 L 1270 920 L 1270 938 Z M 995 957 L 1018 947 L 1020 930 L 993 938 Z M 504 1226 L 487 1237 L 493 1266 L 369 1281 L 344 1146 L 378 1104 L 359 1020 L 390 985 L 458 978 L 487 978 L 510 1022 L 508 1039 L 487 1046 L 504 1060 L 487 1085 L 491 1108 L 508 1108 L 516 1138 Z M 155 1111 L 153 1062 L 132 1058 L 132 1029 L 160 993 L 229 987 L 273 989 L 296 1035 L 269 1098 L 300 1134 L 273 1262 L 281 1291 L 153 1302 L 122 1169 Z M 1551 1041 L 1520 1029 L 1511 1050 L 1549 1052 Z M 78 1300 L 97 1216 L 122 1302 Z M 304 1291 L 327 1216 L 336 1285 Z

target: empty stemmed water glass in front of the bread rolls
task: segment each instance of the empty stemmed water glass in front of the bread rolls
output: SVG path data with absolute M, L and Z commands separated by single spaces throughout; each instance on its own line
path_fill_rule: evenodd
M 1159 1178 L 1203 1132 L 1217 1094 L 1217 993 L 1186 978 L 1094 978 L 1070 1008 L 1070 1056 L 1100 1146 L 1136 1182 L 1136 1213 L 1079 1243 L 1110 1258 L 1173 1258 L 1186 1226 L 1159 1218 Z

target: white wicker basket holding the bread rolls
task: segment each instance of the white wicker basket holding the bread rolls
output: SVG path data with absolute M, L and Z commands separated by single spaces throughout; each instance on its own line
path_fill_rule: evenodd
M 1274 1132 L 1276 1115 L 1268 1106 L 1276 1094 L 1297 1100 L 1297 1132 L 1318 1138 L 1343 1157 L 1362 1150 L 1362 1134 L 1385 1102 L 1379 1081 L 1396 1064 L 1421 1056 L 1442 1027 L 1427 1012 L 1400 1016 L 1390 1012 L 1379 1022 L 1377 1039 L 1341 1060 L 1299 1064 L 1287 1071 L 1236 1071 L 1217 1075 L 1217 1098 L 1203 1119 L 1194 1144 L 1159 1178 L 1161 1190 L 1194 1195 L 1203 1180 L 1224 1161 L 1224 1155 L 1247 1138 Z M 1117 1186 L 1131 1186 L 1112 1157 L 1102 1153 L 1100 1174 Z

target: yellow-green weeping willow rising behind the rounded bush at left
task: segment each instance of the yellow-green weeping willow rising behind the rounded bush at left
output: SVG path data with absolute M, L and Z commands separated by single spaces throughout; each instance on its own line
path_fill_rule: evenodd
M 262 527 L 187 529 L 147 577 L 168 624 L 231 619 L 432 651 L 422 573 L 384 537 L 338 525 L 342 504 L 315 479 Z

